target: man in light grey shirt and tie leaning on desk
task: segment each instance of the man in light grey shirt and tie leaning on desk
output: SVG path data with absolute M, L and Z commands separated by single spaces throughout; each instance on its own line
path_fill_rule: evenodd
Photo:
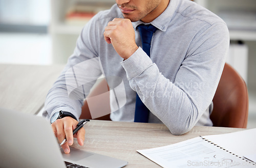
M 53 121 L 52 129 L 60 142 L 67 137 L 68 143 L 62 145 L 65 153 L 73 144 L 72 129 L 83 102 L 70 97 L 72 85 L 67 84 L 67 72 L 75 73 L 78 65 L 85 68 L 79 77 L 90 72 L 96 77 L 104 74 L 122 79 L 125 105 L 111 113 L 113 121 L 133 122 L 140 98 L 151 111 L 148 122 L 164 123 L 173 134 L 183 134 L 195 125 L 212 125 L 212 98 L 229 46 L 224 21 L 188 0 L 116 3 L 84 26 L 73 55 L 47 96 L 44 115 Z M 148 23 L 156 29 L 151 48 L 144 51 L 139 27 Z M 95 58 L 98 60 L 92 64 L 81 64 Z M 111 86 L 111 81 L 108 83 Z M 84 95 L 88 93 L 84 89 L 91 86 L 82 88 Z M 116 97 L 110 96 L 111 107 Z M 68 112 L 57 119 L 60 110 Z M 84 135 L 84 129 L 75 135 L 79 145 L 83 145 Z

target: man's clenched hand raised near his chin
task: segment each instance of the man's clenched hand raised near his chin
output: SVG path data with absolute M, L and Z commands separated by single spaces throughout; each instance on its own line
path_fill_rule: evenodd
M 138 49 L 130 19 L 114 18 L 105 27 L 103 35 L 105 41 L 112 43 L 116 52 L 125 60 Z

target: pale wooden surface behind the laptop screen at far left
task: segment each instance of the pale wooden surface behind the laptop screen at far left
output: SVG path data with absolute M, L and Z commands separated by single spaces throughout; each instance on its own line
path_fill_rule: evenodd
M 63 67 L 0 64 L 0 107 L 37 114 Z

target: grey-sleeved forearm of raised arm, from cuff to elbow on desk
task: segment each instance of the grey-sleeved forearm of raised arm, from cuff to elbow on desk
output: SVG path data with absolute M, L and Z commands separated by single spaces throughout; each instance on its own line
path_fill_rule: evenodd
M 173 134 L 182 134 L 193 127 L 198 111 L 186 93 L 165 78 L 141 48 L 135 54 L 122 65 L 131 88 L 142 102 Z

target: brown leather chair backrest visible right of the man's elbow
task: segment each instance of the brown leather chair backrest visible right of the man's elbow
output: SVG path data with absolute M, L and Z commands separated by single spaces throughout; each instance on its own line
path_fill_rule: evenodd
M 215 93 L 210 119 L 214 126 L 246 128 L 248 91 L 243 78 L 227 63 Z

